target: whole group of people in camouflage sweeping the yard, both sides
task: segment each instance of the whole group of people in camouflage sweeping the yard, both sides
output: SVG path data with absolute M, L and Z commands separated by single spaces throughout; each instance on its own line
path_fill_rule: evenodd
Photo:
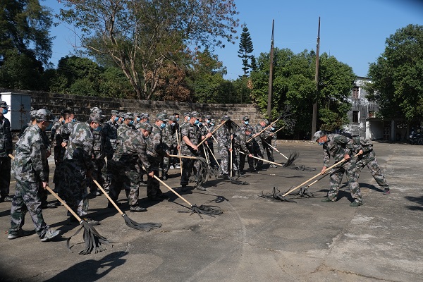
M 276 130 L 264 118 L 253 127 L 247 116 L 243 117 L 240 126 L 230 116 L 214 119 L 197 111 L 184 113 L 183 121 L 180 121 L 177 113 L 171 116 L 159 113 L 150 118 L 145 113 L 112 110 L 106 117 L 101 109 L 93 107 L 87 121 L 75 121 L 71 109 L 63 109 L 55 123 L 49 110 L 31 111 L 31 121 L 20 133 L 11 166 L 8 156 L 13 146 L 10 122 L 4 117 L 7 111 L 6 102 L 0 102 L 0 202 L 12 202 L 9 239 L 28 235 L 22 229 L 26 212 L 30 213 L 42 241 L 59 235 L 59 231 L 50 228 L 42 216 L 42 208 L 49 207 L 45 188 L 49 183 L 51 151 L 56 165 L 54 192 L 81 219 L 92 225 L 98 225 L 99 221 L 88 216 L 88 195 L 89 191 L 92 197 L 101 195 L 99 187 L 116 204 L 119 193 L 125 190 L 130 212 L 145 212 L 147 209 L 140 206 L 139 188 L 147 185 L 149 201 L 167 199 L 168 196 L 160 190 L 160 181 L 168 179 L 172 168 L 181 169 L 180 192 L 185 192 L 190 182 L 195 183 L 196 189 L 206 190 L 203 183 L 210 171 L 216 171 L 218 178 L 238 178 L 245 173 L 245 161 L 251 173 L 263 170 L 265 151 L 269 162 L 274 162 Z M 47 136 L 47 128 L 51 128 L 50 136 Z M 329 156 L 335 161 L 344 159 L 343 164 L 331 173 L 331 188 L 324 202 L 336 200 L 345 172 L 355 199 L 351 205 L 361 205 L 357 179 L 360 169 L 366 165 L 385 193 L 389 192 L 371 141 L 326 135 L 322 131 L 314 136 L 314 140 L 324 146 L 322 174 L 329 166 Z M 214 153 L 214 142 L 217 143 L 220 162 Z M 357 161 L 351 161 L 353 153 L 360 155 Z M 16 177 L 13 200 L 8 195 L 11 169 Z M 109 203 L 107 207 L 114 206 Z M 69 212 L 68 216 L 70 222 L 76 221 Z

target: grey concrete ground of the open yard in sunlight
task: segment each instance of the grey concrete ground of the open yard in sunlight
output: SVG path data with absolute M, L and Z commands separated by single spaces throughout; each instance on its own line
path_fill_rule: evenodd
M 192 204 L 221 207 L 220 216 L 190 215 L 188 205 L 171 192 L 168 201 L 148 202 L 144 187 L 141 203 L 148 211 L 133 214 L 121 192 L 119 202 L 130 219 L 163 224 L 143 232 L 106 209 L 104 195 L 91 199 L 90 216 L 102 223 L 95 229 L 113 241 L 97 254 L 78 255 L 82 233 L 71 239 L 73 252 L 67 250 L 66 239 L 78 226 L 67 224 L 60 206 L 43 212 L 62 232 L 60 238 L 42 243 L 34 234 L 8 240 L 11 203 L 0 203 L 0 281 L 423 281 L 422 147 L 375 142 L 392 192 L 382 195 L 364 168 L 362 207 L 349 206 L 346 185 L 337 202 L 322 203 L 329 178 L 309 188 L 314 197 L 288 196 L 296 202 L 259 197 L 274 187 L 286 192 L 321 170 L 322 149 L 316 143 L 280 141 L 278 149 L 286 155 L 299 152 L 295 165 L 316 170 L 269 168 L 240 178 L 250 185 L 212 179 L 206 192 L 182 193 Z M 284 162 L 278 153 L 275 159 Z M 166 183 L 178 188 L 180 171 L 170 172 L 174 177 Z M 217 196 L 223 202 L 213 202 Z M 52 195 L 49 202 L 56 202 Z M 29 214 L 23 228 L 34 228 Z

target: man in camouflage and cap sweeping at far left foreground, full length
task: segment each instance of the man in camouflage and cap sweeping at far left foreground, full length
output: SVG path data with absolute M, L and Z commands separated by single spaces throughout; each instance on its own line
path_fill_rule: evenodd
M 16 157 L 13 161 L 16 190 L 12 200 L 11 228 L 8 231 L 8 239 L 30 235 L 30 232 L 22 229 L 25 214 L 30 212 L 35 231 L 45 242 L 59 235 L 59 231 L 55 231 L 44 222 L 39 199 L 39 189 L 47 187 L 49 178 L 45 164 L 47 148 L 42 132 L 54 121 L 54 117 L 50 111 L 40 109 L 37 111 L 36 121 L 36 125 L 28 127 L 16 143 Z M 42 187 L 39 185 L 40 182 Z

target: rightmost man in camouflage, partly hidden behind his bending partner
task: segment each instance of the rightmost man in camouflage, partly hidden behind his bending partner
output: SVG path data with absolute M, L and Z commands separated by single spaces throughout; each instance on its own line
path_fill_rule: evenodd
M 384 195 L 389 194 L 391 190 L 389 189 L 389 185 L 386 183 L 386 179 L 382 174 L 381 167 L 377 163 L 372 140 L 364 139 L 364 137 L 354 137 L 353 140 L 354 152 L 355 154 L 359 154 L 356 161 L 357 170 L 360 173 L 362 168 L 367 166 L 370 173 L 372 173 L 374 180 L 376 180 L 376 183 L 384 189 Z

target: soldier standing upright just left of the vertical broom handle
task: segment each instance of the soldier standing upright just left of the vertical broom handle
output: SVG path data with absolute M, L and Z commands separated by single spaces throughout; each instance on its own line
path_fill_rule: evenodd
M 232 142 L 232 135 L 231 135 L 231 127 L 228 126 L 231 118 L 229 116 L 223 116 L 221 118 L 221 123 L 225 123 L 222 125 L 218 130 L 216 130 L 216 141 L 217 141 L 217 149 L 221 156 L 221 166 L 219 168 L 219 178 L 229 179 L 229 154 L 232 152 L 231 142 Z

